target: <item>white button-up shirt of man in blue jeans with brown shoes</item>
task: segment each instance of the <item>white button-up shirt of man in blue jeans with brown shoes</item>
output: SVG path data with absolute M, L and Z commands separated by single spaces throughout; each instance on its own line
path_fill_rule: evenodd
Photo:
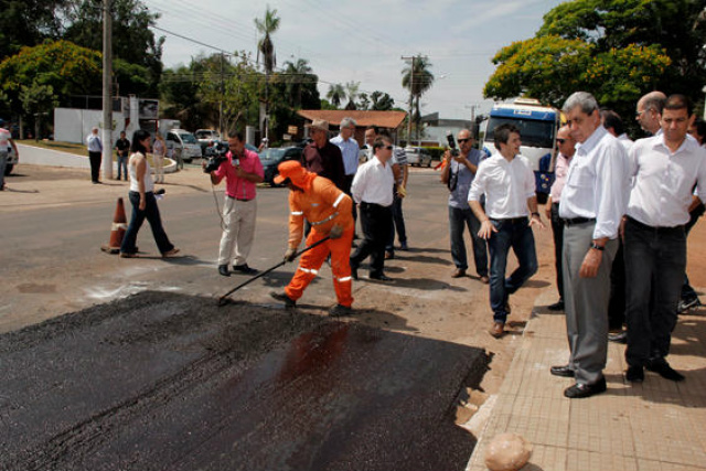
M 530 215 L 527 199 L 535 195 L 534 173 L 523 156 L 507 161 L 495 153 L 481 161 L 468 192 L 469 201 L 481 201 L 485 194 L 485 214 L 492 220 L 510 220 Z

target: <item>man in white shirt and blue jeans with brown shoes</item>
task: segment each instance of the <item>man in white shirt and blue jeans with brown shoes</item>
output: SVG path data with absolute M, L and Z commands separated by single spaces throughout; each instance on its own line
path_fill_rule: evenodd
M 513 125 L 501 125 L 493 133 L 499 153 L 480 163 L 468 200 L 481 222 L 478 235 L 488 240 L 490 249 L 490 307 L 493 310 L 490 333 L 498 339 L 505 333 L 510 295 L 537 271 L 532 226 L 544 227 L 544 223 L 537 212 L 534 173 L 527 159 L 520 156 L 520 130 Z M 485 210 L 481 205 L 483 194 Z M 505 278 L 510 248 L 518 266 Z

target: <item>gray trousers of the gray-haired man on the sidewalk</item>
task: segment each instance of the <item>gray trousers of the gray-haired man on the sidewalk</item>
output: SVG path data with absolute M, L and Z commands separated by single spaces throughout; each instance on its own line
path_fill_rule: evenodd
M 599 381 L 608 357 L 608 301 L 610 270 L 618 251 L 618 240 L 609 240 L 595 278 L 581 278 L 579 271 L 590 249 L 596 223 L 564 227 L 564 301 L 566 333 L 569 341 L 569 367 L 576 382 Z

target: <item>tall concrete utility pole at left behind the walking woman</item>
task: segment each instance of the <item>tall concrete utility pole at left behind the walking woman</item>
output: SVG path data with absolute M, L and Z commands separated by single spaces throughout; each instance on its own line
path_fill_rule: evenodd
M 113 180 L 113 0 L 103 0 L 103 178 Z

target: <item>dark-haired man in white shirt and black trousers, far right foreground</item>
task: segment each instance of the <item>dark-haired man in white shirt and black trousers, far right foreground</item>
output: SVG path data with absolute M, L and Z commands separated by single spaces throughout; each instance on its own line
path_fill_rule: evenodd
M 630 151 L 634 185 L 624 217 L 628 349 L 625 377 L 644 379 L 644 367 L 682 381 L 665 357 L 676 325 L 686 268 L 688 207 L 694 184 L 706 201 L 706 149 L 686 131 L 694 120 L 684 95 L 667 98 L 661 115 L 662 132 L 637 141 Z M 650 296 L 648 296 L 650 295 Z

